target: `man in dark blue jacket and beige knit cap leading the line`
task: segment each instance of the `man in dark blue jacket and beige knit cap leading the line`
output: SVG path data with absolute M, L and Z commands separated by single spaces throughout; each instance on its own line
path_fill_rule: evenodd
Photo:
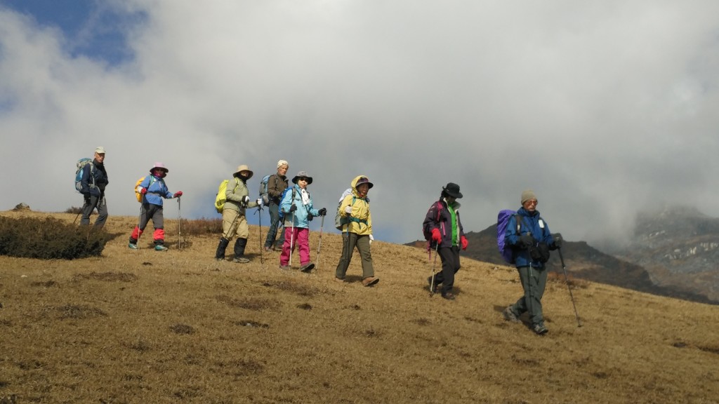
M 516 215 L 510 217 L 505 231 L 505 244 L 514 252 L 515 265 L 522 282 L 524 295 L 517 303 L 508 306 L 503 316 L 508 321 L 519 321 L 519 316 L 528 311 L 531 329 L 536 334 L 547 333 L 541 310 L 541 298 L 546 286 L 546 267 L 549 250 L 562 247 L 562 235 L 552 235 L 549 226 L 536 210 L 537 198 L 532 190 L 524 190 L 521 205 Z M 519 219 L 519 231 L 517 231 Z

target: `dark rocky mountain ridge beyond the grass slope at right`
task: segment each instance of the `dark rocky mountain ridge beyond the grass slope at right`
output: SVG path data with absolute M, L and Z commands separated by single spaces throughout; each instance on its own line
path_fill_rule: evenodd
M 497 249 L 497 225 L 470 231 L 463 256 L 508 265 Z M 426 242 L 408 243 L 426 247 Z M 597 283 L 700 303 L 719 304 L 719 219 L 696 209 L 672 208 L 638 216 L 630 247 L 605 254 L 586 242 L 564 242 L 562 255 L 572 276 Z M 549 270 L 562 272 L 553 252 Z

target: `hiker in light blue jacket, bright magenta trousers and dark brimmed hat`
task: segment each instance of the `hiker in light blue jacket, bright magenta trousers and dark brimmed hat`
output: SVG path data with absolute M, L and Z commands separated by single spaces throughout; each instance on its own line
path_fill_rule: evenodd
M 285 242 L 280 254 L 280 270 L 290 269 L 290 256 L 298 246 L 300 252 L 300 270 L 310 272 L 314 268 L 310 262 L 309 226 L 313 216 L 324 216 L 327 208 L 315 209 L 312 197 L 307 191 L 307 185 L 312 183 L 312 177 L 306 171 L 300 171 L 292 178 L 295 184 L 285 190 L 285 196 L 280 202 L 285 219 Z

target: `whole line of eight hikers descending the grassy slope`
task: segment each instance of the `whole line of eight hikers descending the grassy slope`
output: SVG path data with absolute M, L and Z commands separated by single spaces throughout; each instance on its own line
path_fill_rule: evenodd
M 82 208 L 81 224 L 88 225 L 93 209 L 97 209 L 99 217 L 95 226 L 103 226 L 107 218 L 107 207 L 104 190 L 109 180 L 104 168 L 105 149 L 97 147 L 92 164 L 83 167 L 81 189 L 85 203 Z M 292 254 L 297 248 L 300 258 L 299 270 L 311 272 L 315 265 L 311 262 L 309 247 L 309 222 L 315 216 L 326 216 L 326 208 L 315 208 L 307 189 L 312 177 L 306 171 L 298 171 L 289 184 L 287 172 L 289 163 L 286 160 L 277 162 L 277 173 L 267 178 L 267 196 L 254 199 L 249 197 L 247 180 L 254 174 L 247 165 L 239 165 L 227 181 L 224 207 L 222 208 L 222 235 L 215 252 L 216 260 L 225 260 L 225 251 L 233 238 L 235 239 L 233 262 L 247 263 L 244 250 L 249 237 L 249 226 L 245 217 L 247 208 L 268 207 L 270 212 L 270 228 L 264 243 L 264 250 L 270 252 L 280 250 L 280 270 L 290 270 Z M 129 248 L 137 249 L 137 240 L 152 219 L 155 231 L 152 234 L 155 249 L 165 251 L 164 230 L 162 224 L 162 199 L 179 198 L 182 191 L 171 193 L 165 185 L 164 178 L 169 170 L 156 162 L 150 169 L 150 175 L 142 178 L 136 185 L 138 200 L 142 203 L 139 224 L 134 227 L 129 237 Z M 366 175 L 358 175 L 342 194 L 337 208 L 339 218 L 338 229 L 342 230 L 342 254 L 336 266 L 334 280 L 346 282 L 347 268 L 352 260 L 354 249 L 357 249 L 362 263 L 362 285 L 370 287 L 379 282 L 375 277 L 372 265 L 370 246 L 372 236 L 372 216 L 370 199 L 367 194 L 374 186 Z M 456 298 L 454 275 L 461 267 L 459 250 L 467 249 L 469 242 L 464 235 L 462 221 L 459 218 L 462 198 L 459 185 L 447 183 L 442 187 L 439 200 L 432 203 L 423 221 L 423 231 L 428 239 L 428 249 L 434 249 L 441 259 L 441 271 L 434 272 L 427 279 L 431 293 L 441 293 L 446 300 Z M 521 194 L 521 208 L 509 217 L 503 235 L 503 242 L 510 252 L 511 260 L 516 266 L 521 280 L 523 295 L 516 303 L 503 311 L 507 321 L 518 322 L 523 313 L 528 313 L 531 329 L 539 335 L 546 334 L 542 314 L 541 298 L 546 287 L 547 270 L 544 263 L 549 259 L 549 251 L 562 247 L 561 234 L 551 234 L 549 226 L 536 210 L 537 198 L 532 190 L 524 190 Z M 279 238 L 278 238 L 279 233 Z M 499 237 L 501 238 L 501 236 Z M 275 240 L 277 241 L 275 242 Z

